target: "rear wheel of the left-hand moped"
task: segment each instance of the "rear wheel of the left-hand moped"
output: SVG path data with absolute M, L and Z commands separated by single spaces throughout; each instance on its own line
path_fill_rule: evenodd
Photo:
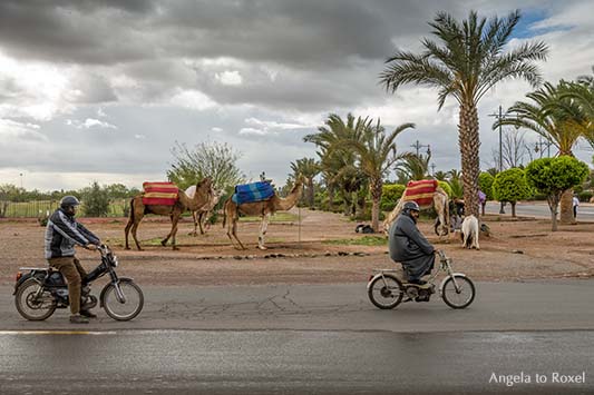
M 29 320 L 43 320 L 56 312 L 56 298 L 45 290 L 37 295 L 41 286 L 33 278 L 25 280 L 14 296 L 17 312 Z

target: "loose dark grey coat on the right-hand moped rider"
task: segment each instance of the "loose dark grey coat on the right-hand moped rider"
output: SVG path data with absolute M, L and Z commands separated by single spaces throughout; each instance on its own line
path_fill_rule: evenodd
M 389 247 L 390 258 L 402 264 L 409 279 L 417 279 L 434 267 L 435 248 L 408 213 L 401 213 L 390 227 Z

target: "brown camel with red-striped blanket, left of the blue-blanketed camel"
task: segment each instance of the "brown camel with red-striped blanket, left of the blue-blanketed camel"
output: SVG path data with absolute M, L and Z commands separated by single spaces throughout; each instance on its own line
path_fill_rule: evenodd
M 140 244 L 138 243 L 138 239 L 136 238 L 136 230 L 138 229 L 138 225 L 143 220 L 143 217 L 145 214 L 156 214 L 159 216 L 169 216 L 172 219 L 172 230 L 165 237 L 160 244 L 162 246 L 165 246 L 169 238 L 172 239 L 172 246 L 173 249 L 178 249 L 175 245 L 175 235 L 177 233 L 177 223 L 179 221 L 179 217 L 186 210 L 198 210 L 204 205 L 208 204 L 213 199 L 213 191 L 212 191 L 212 179 L 210 177 L 204 178 L 202 181 L 199 181 L 196 185 L 196 194 L 194 195 L 194 198 L 188 198 L 187 195 L 179 190 L 177 196 L 177 201 L 173 206 L 165 206 L 165 205 L 145 205 L 143 204 L 143 196 L 138 195 L 134 197 L 130 200 L 130 218 L 128 219 L 128 224 L 126 225 L 125 234 L 126 234 L 126 249 L 130 249 L 128 245 L 128 231 L 132 227 L 132 236 L 134 237 L 134 243 L 136 243 L 136 248 L 138 250 L 142 250 Z

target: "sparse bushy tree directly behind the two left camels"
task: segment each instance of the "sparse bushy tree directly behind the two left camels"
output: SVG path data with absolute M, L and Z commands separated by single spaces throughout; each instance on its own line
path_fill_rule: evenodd
M 167 178 L 182 189 L 196 185 L 205 177 L 213 179 L 213 186 L 218 191 L 243 184 L 245 180 L 245 176 L 237 167 L 241 152 L 235 151 L 226 142 L 203 141 L 194 149 L 176 142 L 172 148 L 172 155 L 174 162 L 167 170 Z

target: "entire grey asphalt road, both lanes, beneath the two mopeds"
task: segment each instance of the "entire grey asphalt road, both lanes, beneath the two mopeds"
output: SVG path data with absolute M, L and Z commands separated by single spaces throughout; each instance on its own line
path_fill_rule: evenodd
M 593 287 L 478 283 L 465 310 L 439 298 L 379 310 L 364 280 L 145 287 L 137 319 L 99 310 L 88 326 L 64 310 L 26 322 L 3 287 L 0 392 L 592 394 Z

